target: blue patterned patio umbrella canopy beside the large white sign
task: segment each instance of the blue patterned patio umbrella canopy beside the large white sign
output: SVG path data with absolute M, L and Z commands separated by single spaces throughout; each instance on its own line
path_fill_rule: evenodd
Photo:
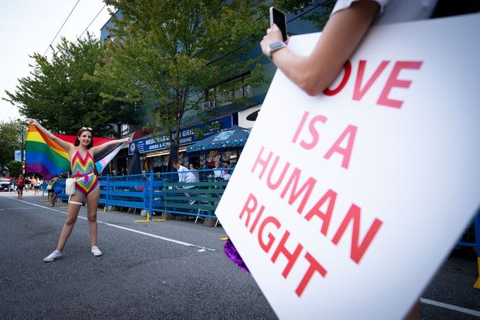
M 234 125 L 187 147 L 187 152 L 227 147 L 243 147 L 249 135 L 250 130 Z

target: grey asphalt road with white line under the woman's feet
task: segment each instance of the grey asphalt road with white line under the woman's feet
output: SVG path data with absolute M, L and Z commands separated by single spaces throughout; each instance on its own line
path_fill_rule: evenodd
M 253 278 L 224 256 L 221 226 L 99 210 L 104 255 L 94 257 L 82 208 L 64 257 L 45 263 L 66 211 L 33 193 L 0 193 L 1 319 L 276 319 Z M 454 250 L 422 295 L 422 319 L 479 319 L 477 277 L 476 254 Z

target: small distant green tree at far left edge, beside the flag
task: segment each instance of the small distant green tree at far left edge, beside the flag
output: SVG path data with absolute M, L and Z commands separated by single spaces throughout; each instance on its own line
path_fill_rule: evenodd
M 1 122 L 0 123 L 0 168 L 8 167 L 10 162 L 15 158 L 15 150 L 21 150 L 22 147 L 22 130 L 25 138 L 25 123 L 20 120 Z

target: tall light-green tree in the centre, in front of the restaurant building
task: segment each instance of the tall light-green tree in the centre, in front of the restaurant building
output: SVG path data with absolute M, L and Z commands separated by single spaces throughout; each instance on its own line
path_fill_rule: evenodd
M 265 82 L 259 45 L 267 27 L 261 1 L 105 0 L 121 10 L 106 45 L 99 79 L 127 95 L 111 96 L 140 102 L 155 110 L 154 130 L 178 147 L 184 115 L 195 114 L 208 88 L 232 86 L 228 79 L 250 74 L 244 85 Z M 258 19 L 259 8 L 263 16 Z M 249 53 L 249 54 L 248 54 Z M 192 113 L 190 113 L 192 112 Z M 176 157 L 176 154 L 171 156 Z

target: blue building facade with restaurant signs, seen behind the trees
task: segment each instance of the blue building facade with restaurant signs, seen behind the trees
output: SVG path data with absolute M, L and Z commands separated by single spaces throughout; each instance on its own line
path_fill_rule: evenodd
M 313 1 L 316 3 L 317 1 Z M 304 8 L 302 12 L 297 14 L 287 14 L 287 30 L 292 35 L 306 34 L 310 32 L 317 32 L 313 23 L 305 21 L 302 16 L 313 14 L 319 11 L 325 11 L 328 8 L 322 5 L 311 5 Z M 115 15 L 121 19 L 121 12 L 117 10 Z M 104 27 L 101 28 L 101 40 L 105 41 L 111 38 L 112 34 L 108 30 L 112 27 L 111 19 L 107 21 Z M 268 25 L 265 25 L 267 29 Z M 259 39 L 260 41 L 260 39 Z M 259 56 L 261 54 L 260 45 L 250 50 L 250 55 Z M 276 67 L 267 58 L 261 61 L 265 66 L 265 76 L 272 79 L 276 71 Z M 215 167 L 215 161 L 222 160 L 227 162 L 236 162 L 241 155 L 241 148 L 228 149 L 222 148 L 218 150 L 208 150 L 196 153 L 186 153 L 185 149 L 196 143 L 200 138 L 195 137 L 196 129 L 203 129 L 206 138 L 221 130 L 226 130 L 233 125 L 251 129 L 254 125 L 256 115 L 261 110 L 263 100 L 269 88 L 269 82 L 257 88 L 251 88 L 244 85 L 245 79 L 250 75 L 238 75 L 234 79 L 230 79 L 228 84 L 232 84 L 231 90 L 219 90 L 219 88 L 208 89 L 208 97 L 205 101 L 198 101 L 202 110 L 202 116 L 195 112 L 187 112 L 182 118 L 182 128 L 180 130 L 180 149 L 179 161 L 185 166 L 194 164 L 197 169 L 208 169 Z M 243 98 L 248 103 L 232 103 L 231 100 Z M 145 107 L 147 108 L 147 107 Z M 142 167 L 145 171 L 154 170 L 154 172 L 162 172 L 167 169 L 167 162 L 169 160 L 170 145 L 166 134 L 145 132 L 142 130 L 146 123 L 155 123 L 154 114 L 146 112 L 147 110 L 139 110 L 135 116 L 141 119 L 141 125 L 132 126 L 128 124 L 119 125 L 118 130 L 122 134 L 130 134 L 132 136 L 132 143 L 128 150 L 122 151 L 117 159 L 113 161 L 112 169 L 119 172 L 121 168 L 128 167 L 130 158 L 133 153 L 138 151 L 142 160 Z M 207 121 L 200 121 L 208 119 Z

